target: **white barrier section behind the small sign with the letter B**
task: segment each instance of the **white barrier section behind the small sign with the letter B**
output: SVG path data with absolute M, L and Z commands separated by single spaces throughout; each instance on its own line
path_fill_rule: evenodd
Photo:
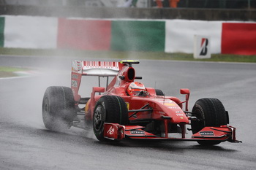
M 222 22 L 166 20 L 165 53 L 193 53 L 194 35 L 211 37 L 211 53 L 221 53 Z

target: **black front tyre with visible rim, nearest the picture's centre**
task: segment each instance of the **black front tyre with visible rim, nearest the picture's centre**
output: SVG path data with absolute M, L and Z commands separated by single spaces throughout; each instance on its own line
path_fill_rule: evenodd
M 127 105 L 120 96 L 102 96 L 94 108 L 93 129 L 99 141 L 109 141 L 104 138 L 104 123 L 119 123 L 127 125 L 129 121 Z

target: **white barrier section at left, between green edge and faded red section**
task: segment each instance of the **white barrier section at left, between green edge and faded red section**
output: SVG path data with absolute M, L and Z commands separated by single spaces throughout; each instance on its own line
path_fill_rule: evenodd
M 56 48 L 58 18 L 5 16 L 4 47 Z

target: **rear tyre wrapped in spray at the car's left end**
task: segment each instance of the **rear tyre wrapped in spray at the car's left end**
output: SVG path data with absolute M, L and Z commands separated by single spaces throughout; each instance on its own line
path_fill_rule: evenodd
M 42 120 L 51 131 L 66 131 L 75 117 L 75 100 L 71 88 L 50 86 L 42 100 Z

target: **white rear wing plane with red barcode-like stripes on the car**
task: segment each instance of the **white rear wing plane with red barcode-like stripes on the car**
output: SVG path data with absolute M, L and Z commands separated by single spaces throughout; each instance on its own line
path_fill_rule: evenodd
M 84 76 L 116 76 L 123 64 L 115 61 L 73 61 L 72 73 Z

